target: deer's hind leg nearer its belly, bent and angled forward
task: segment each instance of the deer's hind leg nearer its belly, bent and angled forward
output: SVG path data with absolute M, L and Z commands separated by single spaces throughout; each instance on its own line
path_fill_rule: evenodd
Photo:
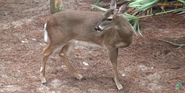
M 69 62 L 68 55 L 71 51 L 72 48 L 75 47 L 75 42 L 68 42 L 66 45 L 63 46 L 61 49 L 59 56 L 61 61 L 63 60 L 65 65 L 68 67 L 70 72 L 75 76 L 76 79 L 81 80 L 82 76 L 73 68 L 71 63 Z

